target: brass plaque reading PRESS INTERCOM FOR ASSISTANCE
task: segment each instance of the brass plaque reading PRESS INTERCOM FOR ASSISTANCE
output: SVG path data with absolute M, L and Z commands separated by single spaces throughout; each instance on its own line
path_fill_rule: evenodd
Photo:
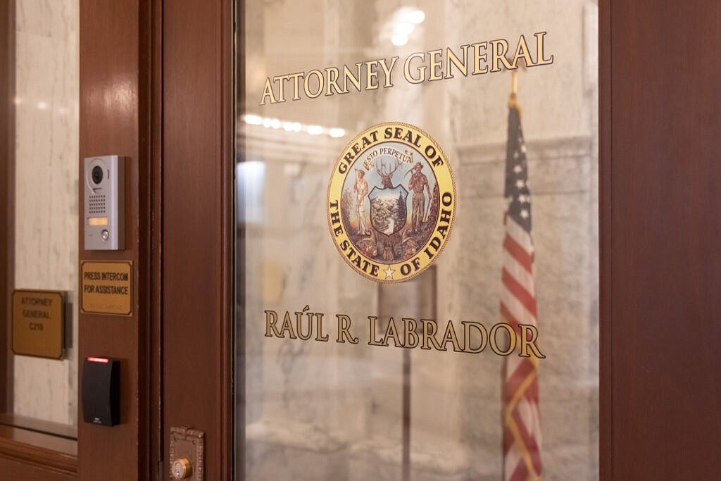
M 133 262 L 80 263 L 80 306 L 96 314 L 133 314 Z

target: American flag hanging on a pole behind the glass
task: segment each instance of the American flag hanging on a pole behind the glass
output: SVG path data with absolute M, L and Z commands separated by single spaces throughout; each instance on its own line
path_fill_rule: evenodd
M 526 144 L 521 113 L 515 99 L 509 102 L 508 144 L 505 160 L 505 238 L 500 314 L 516 332 L 519 324 L 537 327 L 534 283 L 534 243 L 531 239 L 531 195 L 528 191 Z M 541 424 L 539 422 L 538 358 L 521 358 L 516 352 L 503 363 L 503 480 L 541 480 Z

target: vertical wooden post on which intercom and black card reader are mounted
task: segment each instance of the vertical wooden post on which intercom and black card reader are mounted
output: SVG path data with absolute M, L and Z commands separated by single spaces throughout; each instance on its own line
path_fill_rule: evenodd
M 79 479 L 147 480 L 157 475 L 161 380 L 159 295 L 152 266 L 157 244 L 156 203 L 151 186 L 158 174 L 159 115 L 155 76 L 159 45 L 158 2 L 81 0 L 80 8 L 80 172 L 86 156 L 118 154 L 125 162 L 125 250 L 83 250 L 80 260 L 133 262 L 133 315 L 79 316 L 79 359 L 107 356 L 121 361 L 120 425 L 82 422 L 79 413 Z M 79 205 L 82 205 L 82 190 Z M 79 214 L 82 216 L 82 213 Z M 80 365 L 80 370 L 82 364 Z M 82 376 L 82 372 L 80 373 Z M 165 477 L 163 477 L 165 479 Z

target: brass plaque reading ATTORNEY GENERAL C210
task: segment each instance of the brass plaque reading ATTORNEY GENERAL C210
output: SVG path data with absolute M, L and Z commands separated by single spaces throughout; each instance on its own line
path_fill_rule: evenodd
M 22 356 L 63 357 L 65 294 L 19 289 L 12 293 L 12 351 Z

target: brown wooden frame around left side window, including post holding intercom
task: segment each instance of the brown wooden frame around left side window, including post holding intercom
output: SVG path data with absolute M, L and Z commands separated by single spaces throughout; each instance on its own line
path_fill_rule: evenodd
M 14 43 L 12 37 L 13 1 L 0 10 L 0 61 L 9 66 L 0 82 L 3 92 L 12 95 Z M 0 472 L 9 479 L 24 481 L 80 480 L 160 480 L 157 460 L 162 457 L 162 409 L 160 366 L 161 310 L 159 272 L 162 199 L 159 187 L 162 167 L 159 114 L 162 105 L 160 27 L 161 0 L 81 0 L 79 32 L 79 175 L 86 156 L 119 154 L 128 157 L 125 172 L 126 248 L 117 252 L 85 251 L 83 219 L 79 209 L 79 260 L 118 260 L 133 262 L 133 312 L 129 317 L 79 312 L 79 379 L 81 360 L 88 356 L 108 356 L 121 363 L 120 425 L 113 428 L 82 422 L 79 405 L 78 441 L 0 426 Z M 3 262 L 1 304 L 3 319 L 9 319 L 7 299 L 12 288 L 12 167 L 14 120 L 12 98 L 1 102 L 0 148 L 6 152 L 0 161 L 4 176 L 1 198 L 8 200 L 0 215 L 0 253 Z M 81 185 L 81 182 L 79 182 Z M 78 205 L 83 203 L 81 190 Z M 4 325 L 8 327 L 9 323 Z M 12 352 L 4 341 L 3 381 L 6 366 L 12 366 Z M 9 389 L 4 386 L 4 393 Z M 6 407 L 6 400 L 0 404 Z M 77 453 L 77 454 L 74 454 Z

